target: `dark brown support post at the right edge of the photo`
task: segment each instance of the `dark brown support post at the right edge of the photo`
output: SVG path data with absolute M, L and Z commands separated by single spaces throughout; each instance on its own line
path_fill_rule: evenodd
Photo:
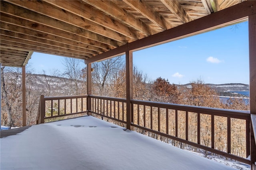
M 249 62 L 250 62 L 250 114 L 256 114 L 256 14 L 248 16 L 249 20 Z M 251 169 L 256 169 L 256 144 L 255 135 L 250 126 L 250 145 L 251 145 Z

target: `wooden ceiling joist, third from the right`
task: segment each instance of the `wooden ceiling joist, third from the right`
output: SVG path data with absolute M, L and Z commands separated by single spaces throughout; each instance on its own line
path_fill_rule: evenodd
M 126 4 L 140 12 L 143 16 L 148 18 L 151 22 L 162 28 L 168 30 L 173 26 L 170 22 L 166 21 L 158 12 L 156 12 L 148 3 L 144 0 L 123 0 Z

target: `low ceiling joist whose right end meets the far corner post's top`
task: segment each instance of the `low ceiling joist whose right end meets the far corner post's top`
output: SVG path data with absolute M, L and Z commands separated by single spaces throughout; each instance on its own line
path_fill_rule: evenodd
M 81 57 L 83 59 L 87 59 L 90 57 L 87 55 L 78 55 L 78 54 L 72 54 L 69 52 L 60 51 L 58 49 L 52 49 L 50 47 L 47 48 L 47 47 L 44 47 L 43 44 L 41 46 L 38 46 L 39 44 L 31 45 L 28 43 L 18 43 L 18 42 L 12 42 L 12 41 L 2 40 L 2 39 L 0 39 L 0 40 L 1 40 L 1 45 L 8 45 L 8 46 L 10 45 L 11 47 L 25 49 L 28 51 L 36 51 L 36 52 L 44 51 L 44 52 L 48 52 L 48 53 L 50 52 L 53 55 L 62 55 L 62 56 L 64 55 L 66 57 Z

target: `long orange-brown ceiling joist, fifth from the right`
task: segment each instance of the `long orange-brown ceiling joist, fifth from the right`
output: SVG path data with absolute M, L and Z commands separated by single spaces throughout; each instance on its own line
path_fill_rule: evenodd
M 132 40 L 138 40 L 138 35 L 136 35 L 136 33 L 132 32 L 129 28 L 124 26 L 124 24 L 122 24 L 117 20 L 115 21 L 112 20 L 112 18 L 90 8 L 90 6 L 80 1 L 70 1 L 70 0 L 58 0 L 58 1 L 44 0 L 44 1 L 54 6 L 58 6 L 59 8 L 69 11 L 73 14 L 76 14 L 82 18 L 85 18 L 91 22 L 94 22 L 96 24 L 109 28 L 110 30 L 113 30 L 124 36 L 131 38 Z M 131 42 L 132 40 L 127 40 L 127 41 Z

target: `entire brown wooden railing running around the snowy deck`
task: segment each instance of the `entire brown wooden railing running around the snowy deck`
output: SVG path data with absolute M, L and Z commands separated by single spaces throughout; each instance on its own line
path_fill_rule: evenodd
M 78 109 L 78 99 L 81 100 L 80 108 L 87 106 L 86 109 L 82 111 Z M 68 107 L 70 107 L 69 110 L 71 111 L 68 113 L 66 111 L 67 100 L 70 100 Z M 50 103 L 47 104 L 47 101 Z M 61 101 L 62 103 L 64 102 L 64 110 L 63 107 L 60 107 Z M 89 103 L 86 103 L 87 101 Z M 75 103 L 75 107 L 73 107 L 73 102 Z M 247 159 L 250 155 L 251 118 L 249 111 L 234 111 L 138 100 L 131 100 L 130 102 L 132 105 L 132 121 L 128 123 L 126 121 L 126 99 L 92 95 L 68 97 L 44 97 L 42 95 L 40 97 L 37 123 L 44 123 L 44 119 L 79 113 L 96 114 L 120 123 L 130 124 L 130 126 L 145 130 L 146 132 L 152 132 L 208 152 L 250 164 L 250 159 Z M 50 105 L 48 116 L 45 114 L 47 112 L 47 105 Z M 57 107 L 56 111 L 54 111 L 54 106 Z M 233 125 L 235 121 L 241 121 L 244 125 L 242 127 L 244 130 L 243 134 L 236 134 L 236 131 L 233 130 L 236 128 Z M 220 124 L 224 129 L 218 129 L 218 125 Z M 224 134 L 218 134 L 220 132 L 224 132 Z M 208 144 L 203 141 L 205 134 L 208 135 L 210 141 L 208 141 Z M 246 153 L 244 156 L 235 155 L 232 151 L 232 141 L 239 135 L 243 135 L 245 140 L 245 146 L 243 147 L 245 147 Z M 223 136 L 226 136 L 226 143 L 223 148 L 218 148 L 216 142 L 220 141 Z

